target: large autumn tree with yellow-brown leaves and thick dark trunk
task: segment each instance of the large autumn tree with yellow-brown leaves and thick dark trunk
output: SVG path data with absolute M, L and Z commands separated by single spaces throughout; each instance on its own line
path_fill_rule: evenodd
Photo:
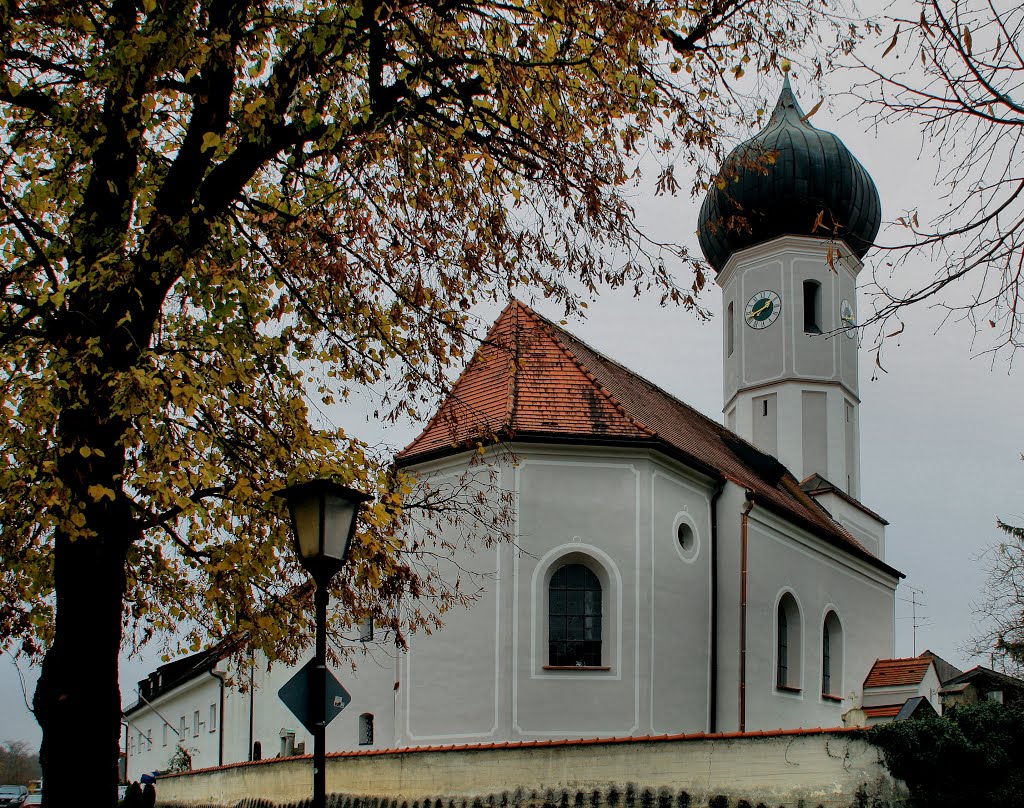
M 376 497 L 343 613 L 399 632 L 465 599 L 398 538 L 409 481 L 313 421 L 359 388 L 416 414 L 467 312 L 516 287 L 695 308 L 702 277 L 676 285 L 688 256 L 638 232 L 624 185 L 641 153 L 715 152 L 726 79 L 804 46 L 819 8 L 0 6 L 0 635 L 43 657 L 49 805 L 114 804 L 123 643 L 183 626 L 294 653 L 288 481 Z

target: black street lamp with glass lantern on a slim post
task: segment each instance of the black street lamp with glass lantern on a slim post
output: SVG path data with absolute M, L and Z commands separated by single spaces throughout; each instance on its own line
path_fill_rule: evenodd
M 327 803 L 327 604 L 329 585 L 345 565 L 366 494 L 327 479 L 291 485 L 278 492 L 288 502 L 299 560 L 313 580 L 316 607 L 316 654 L 309 687 L 313 731 L 313 808 Z

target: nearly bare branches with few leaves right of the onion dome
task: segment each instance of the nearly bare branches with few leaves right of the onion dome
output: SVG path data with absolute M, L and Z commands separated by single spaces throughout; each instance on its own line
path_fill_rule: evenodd
M 859 61 L 870 79 L 854 93 L 876 124 L 921 125 L 943 209 L 923 204 L 899 217 L 910 238 L 889 248 L 891 275 L 877 273 L 872 321 L 889 331 L 906 306 L 927 302 L 987 332 L 990 349 L 1013 352 L 1024 340 L 1024 8 L 1002 0 L 910 8 L 888 19 L 882 58 Z M 907 255 L 921 252 L 934 274 L 905 282 Z

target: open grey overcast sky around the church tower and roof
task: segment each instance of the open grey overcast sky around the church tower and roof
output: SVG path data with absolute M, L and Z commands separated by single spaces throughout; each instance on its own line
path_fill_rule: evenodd
M 805 110 L 818 93 L 797 76 L 794 87 Z M 774 103 L 774 98 L 769 104 Z M 876 136 L 856 119 L 840 119 L 841 100 L 826 100 L 812 123 L 839 134 L 874 179 L 882 197 L 884 220 L 934 199 L 935 167 L 910 127 Z M 771 109 L 771 105 L 769 105 Z M 662 239 L 696 250 L 699 201 L 686 196 L 655 197 L 654 176 L 637 188 L 636 205 L 645 226 Z M 681 179 L 681 185 L 687 183 Z M 883 243 L 898 239 L 884 228 Z M 865 259 L 862 278 L 879 264 L 877 253 Z M 922 274 L 928 262 L 916 258 L 903 271 Z M 530 302 L 530 301 L 527 301 Z M 870 304 L 861 295 L 863 315 Z M 703 305 L 715 318 L 699 323 L 655 299 L 603 293 L 586 322 L 568 329 L 705 414 L 722 420 L 722 344 L 720 290 L 709 286 Z M 539 311 L 561 318 L 561 311 L 537 302 Z M 873 356 L 861 351 L 860 424 L 863 502 L 890 521 L 886 560 L 906 580 L 897 597 L 896 654 L 931 648 L 959 667 L 987 664 L 971 660 L 967 646 L 977 633 L 972 602 L 984 585 L 980 555 L 1000 534 L 996 517 L 1024 522 L 1024 375 L 1011 373 L 1005 360 L 994 365 L 977 355 L 984 343 L 973 340 L 964 325 L 938 329 L 939 312 L 921 307 L 907 315 L 899 342 L 884 354 L 888 373 L 871 380 Z M 938 329 L 938 330 L 937 330 Z M 399 449 L 418 432 L 416 425 L 388 427 L 367 421 L 350 409 L 342 423 L 360 436 L 385 440 Z M 912 642 L 909 587 L 921 591 L 925 605 L 918 613 L 916 648 Z M 88 664 L 83 661 L 83 664 Z M 126 660 L 122 666 L 124 700 L 135 697 L 135 682 L 159 664 L 159 653 Z M 31 697 L 35 673 L 22 664 Z M 38 745 L 39 728 L 25 707 L 17 669 L 0 660 L 0 740 L 25 739 Z

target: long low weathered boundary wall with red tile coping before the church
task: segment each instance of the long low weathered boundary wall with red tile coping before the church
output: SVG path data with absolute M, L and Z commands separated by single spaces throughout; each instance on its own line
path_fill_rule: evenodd
M 298 806 L 308 756 L 161 777 L 162 808 Z M 887 808 L 906 791 L 856 730 L 339 753 L 337 808 Z

